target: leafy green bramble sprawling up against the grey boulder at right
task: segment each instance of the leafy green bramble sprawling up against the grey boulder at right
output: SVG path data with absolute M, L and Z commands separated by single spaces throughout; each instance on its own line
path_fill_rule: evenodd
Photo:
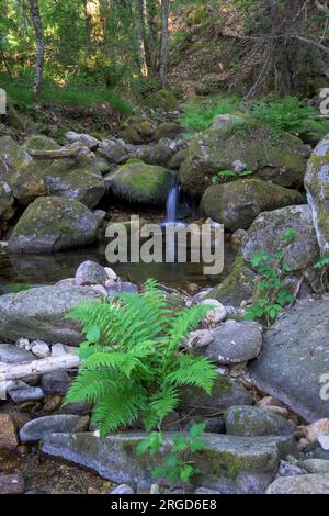
M 256 253 L 251 259 L 252 268 L 259 274 L 253 304 L 246 309 L 247 321 L 261 321 L 268 325 L 273 323 L 287 304 L 295 301 L 284 287 L 283 272 L 284 258 L 287 246 L 294 242 L 296 235 L 294 229 L 288 228 L 283 235 L 283 249 L 280 253 L 269 255 L 264 250 Z

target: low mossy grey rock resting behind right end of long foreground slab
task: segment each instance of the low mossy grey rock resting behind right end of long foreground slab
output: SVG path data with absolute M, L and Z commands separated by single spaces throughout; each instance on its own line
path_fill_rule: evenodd
M 232 406 L 225 413 L 230 436 L 290 436 L 294 427 L 283 417 L 258 406 Z

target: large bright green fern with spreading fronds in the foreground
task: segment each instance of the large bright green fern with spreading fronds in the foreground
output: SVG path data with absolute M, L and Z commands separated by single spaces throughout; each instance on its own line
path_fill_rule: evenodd
M 182 339 L 208 310 L 197 305 L 173 312 L 152 280 L 140 295 L 79 304 L 69 317 L 82 324 L 87 341 L 67 403 L 92 403 L 92 422 L 105 435 L 137 418 L 147 430 L 158 427 L 177 407 L 181 385 L 211 393 L 216 378 L 212 363 L 180 351 Z

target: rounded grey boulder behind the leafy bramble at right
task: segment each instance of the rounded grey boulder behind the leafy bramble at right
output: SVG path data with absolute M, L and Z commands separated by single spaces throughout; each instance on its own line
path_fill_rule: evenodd
M 283 266 L 293 272 L 311 265 L 318 256 L 318 245 L 311 211 L 306 204 L 261 213 L 243 238 L 243 259 L 250 263 L 260 249 L 272 256 L 281 251 L 286 246 L 283 236 L 288 228 L 294 229 L 296 238 L 286 247 Z

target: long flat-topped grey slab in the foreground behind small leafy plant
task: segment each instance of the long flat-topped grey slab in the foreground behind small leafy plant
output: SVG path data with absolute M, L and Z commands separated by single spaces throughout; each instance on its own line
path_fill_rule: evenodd
M 136 447 L 147 434 L 127 433 L 104 439 L 92 434 L 53 434 L 41 450 L 95 470 L 116 483 L 147 481 L 158 458 L 137 457 Z M 166 434 L 170 440 L 172 434 Z M 273 480 L 280 459 L 295 452 L 290 437 L 236 437 L 204 434 L 205 448 L 195 456 L 198 485 L 220 493 L 263 493 Z M 163 450 L 168 453 L 168 450 Z

